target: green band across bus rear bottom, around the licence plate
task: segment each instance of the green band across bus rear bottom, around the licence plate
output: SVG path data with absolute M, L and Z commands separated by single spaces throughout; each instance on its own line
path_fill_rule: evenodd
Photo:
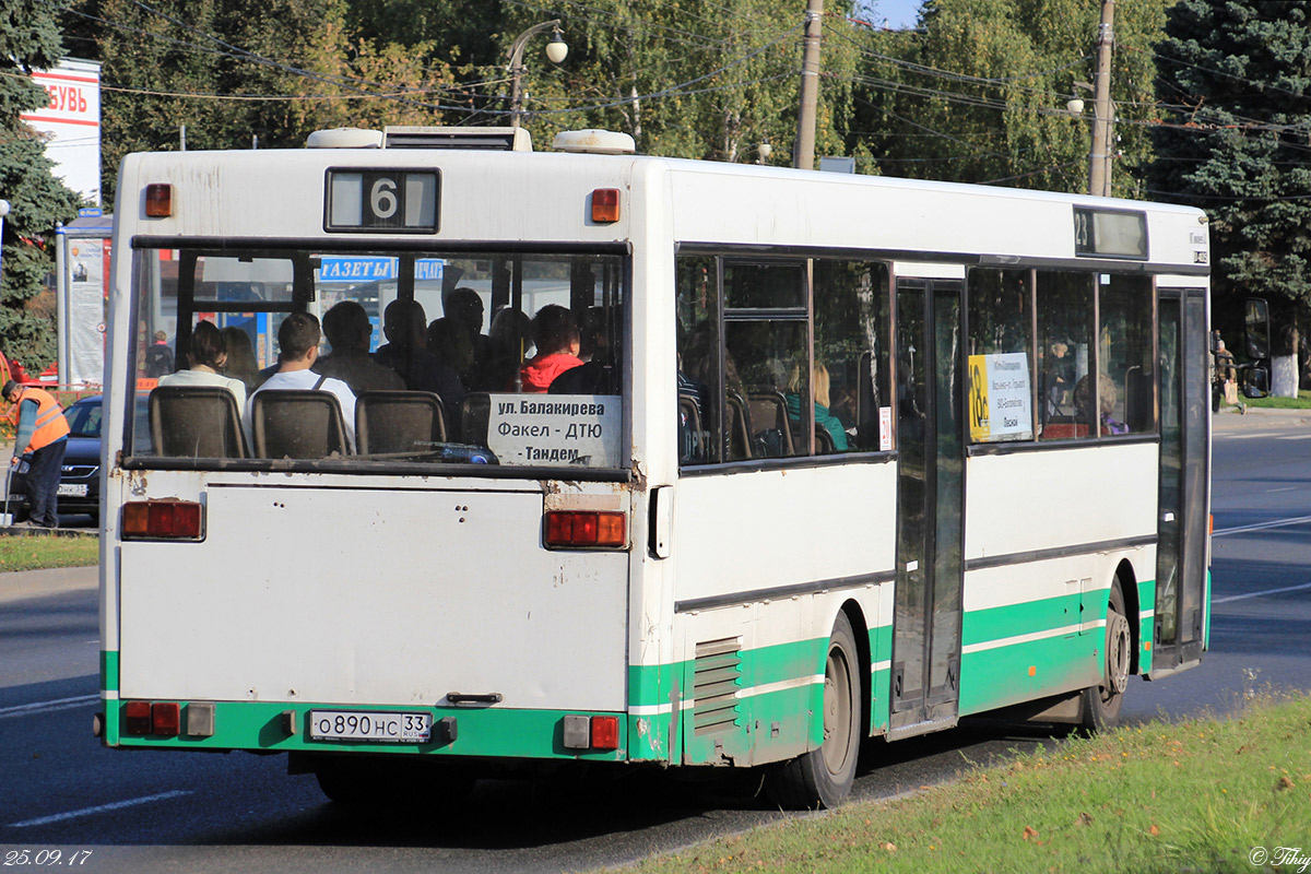
M 216 701 L 214 735 L 210 738 L 128 736 L 125 731 L 122 708 L 114 715 L 118 746 L 149 747 L 155 750 L 266 750 L 270 752 L 383 752 L 399 755 L 437 756 L 496 756 L 523 759 L 578 759 L 589 761 L 623 761 L 628 744 L 628 719 L 621 713 L 593 713 L 587 710 L 509 710 L 501 708 L 397 708 L 341 704 L 298 704 L 290 706 L 277 701 Z M 283 713 L 296 714 L 296 732 L 283 731 Z M 309 712 L 334 710 L 354 713 L 431 713 L 433 736 L 430 743 L 368 743 L 330 742 L 309 739 Z M 589 752 L 568 750 L 564 746 L 565 715 L 619 717 L 619 750 Z M 437 721 L 455 717 L 458 738 L 454 743 L 438 740 Z M 182 706 L 182 729 L 186 729 L 186 704 Z

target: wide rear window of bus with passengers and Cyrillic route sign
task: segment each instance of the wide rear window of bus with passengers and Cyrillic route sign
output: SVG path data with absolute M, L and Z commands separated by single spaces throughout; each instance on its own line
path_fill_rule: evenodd
M 155 455 L 628 465 L 617 256 L 138 250 L 134 273 Z

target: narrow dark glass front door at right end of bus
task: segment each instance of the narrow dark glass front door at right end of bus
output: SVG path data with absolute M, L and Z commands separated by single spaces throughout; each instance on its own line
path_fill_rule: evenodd
M 1159 305 L 1160 501 L 1154 676 L 1202 658 L 1210 481 L 1205 292 L 1164 288 Z

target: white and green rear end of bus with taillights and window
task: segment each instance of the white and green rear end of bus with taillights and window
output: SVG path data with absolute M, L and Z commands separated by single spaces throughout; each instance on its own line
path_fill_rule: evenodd
M 108 746 L 290 752 L 334 797 L 416 757 L 631 757 L 631 270 L 620 228 L 572 207 L 617 190 L 625 165 L 598 164 L 598 181 L 579 160 L 127 159 Z M 492 180 L 517 202 L 493 203 Z M 534 208 L 561 202 L 569 220 Z M 544 312 L 562 339 L 535 335 Z M 305 362 L 278 339 L 295 313 L 336 332 L 311 372 L 337 376 L 292 373 Z M 224 359 L 207 367 L 214 328 Z M 151 370 L 156 343 L 174 372 Z

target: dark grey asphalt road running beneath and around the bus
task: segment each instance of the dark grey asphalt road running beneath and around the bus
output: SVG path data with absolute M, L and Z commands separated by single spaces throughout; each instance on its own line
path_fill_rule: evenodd
M 1222 415 L 1214 444 L 1213 651 L 1134 681 L 1129 719 L 1230 710 L 1268 684 L 1311 685 L 1311 421 Z M 110 752 L 90 738 L 93 571 L 0 578 L 0 849 L 89 849 L 94 871 L 558 871 L 620 865 L 779 819 L 749 776 L 683 782 L 498 780 L 460 810 L 399 818 L 323 801 L 282 757 Z M 21 579 L 20 579 L 21 577 Z M 39 598 L 34 592 L 63 587 Z M 22 591 L 20 586 L 25 586 Z M 857 798 L 949 778 L 1038 740 L 971 726 L 868 747 Z M 876 767 L 877 765 L 877 767 Z

